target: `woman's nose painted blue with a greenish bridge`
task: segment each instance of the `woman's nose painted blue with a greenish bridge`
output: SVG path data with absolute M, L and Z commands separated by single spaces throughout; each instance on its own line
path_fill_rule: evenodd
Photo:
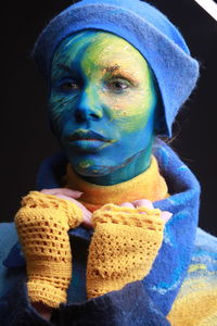
M 75 117 L 77 122 L 85 122 L 102 118 L 103 112 L 99 101 L 97 91 L 90 88 L 86 88 L 80 93 L 77 108 L 75 111 Z

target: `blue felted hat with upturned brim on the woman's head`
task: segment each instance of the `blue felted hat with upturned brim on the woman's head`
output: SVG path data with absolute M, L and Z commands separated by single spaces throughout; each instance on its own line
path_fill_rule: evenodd
M 178 29 L 154 7 L 139 0 L 82 0 L 55 16 L 39 36 L 33 55 L 49 78 L 52 58 L 60 42 L 85 29 L 113 33 L 131 43 L 149 62 L 158 83 L 165 113 L 164 134 L 199 77 L 199 63 L 191 58 Z

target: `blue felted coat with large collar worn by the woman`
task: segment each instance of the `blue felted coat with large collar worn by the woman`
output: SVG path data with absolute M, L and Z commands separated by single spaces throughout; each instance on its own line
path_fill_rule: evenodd
M 87 301 L 86 262 L 91 231 L 81 227 L 69 230 L 74 247 L 74 277 L 68 289 L 68 303 L 55 310 L 51 322 L 47 322 L 28 300 L 25 260 L 14 224 L 1 224 L 1 326 L 171 325 L 167 316 L 179 297 L 184 297 L 186 287 L 188 291 L 195 291 L 194 284 L 203 279 L 206 279 L 207 287 L 216 287 L 217 240 L 197 228 L 199 183 L 164 142 L 156 142 L 154 154 L 171 195 L 155 202 L 154 206 L 174 215 L 166 224 L 163 246 L 150 274 L 143 280 L 129 284 L 119 291 Z M 39 171 L 38 190 L 60 187 L 66 164 L 63 154 L 48 159 Z M 203 273 L 200 269 L 202 265 Z M 217 325 L 217 318 L 213 321 L 216 321 L 216 324 L 207 325 Z M 176 323 L 173 325 L 176 326 Z

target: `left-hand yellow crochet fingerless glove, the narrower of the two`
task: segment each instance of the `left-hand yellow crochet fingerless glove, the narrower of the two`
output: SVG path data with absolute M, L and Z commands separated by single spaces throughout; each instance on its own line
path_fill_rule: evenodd
M 80 208 L 55 196 L 31 191 L 23 198 L 15 225 L 26 258 L 31 302 L 58 308 L 66 302 L 72 278 L 67 231 L 82 221 Z

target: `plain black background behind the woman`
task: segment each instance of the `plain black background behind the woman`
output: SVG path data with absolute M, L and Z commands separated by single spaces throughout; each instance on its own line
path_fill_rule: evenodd
M 46 88 L 30 51 L 49 20 L 72 2 L 9 1 L 1 8 L 0 222 L 13 220 L 21 197 L 35 188 L 40 162 L 59 150 L 48 124 Z M 171 147 L 202 185 L 200 226 L 217 235 L 217 22 L 193 0 L 150 2 L 179 27 L 201 63 L 197 88 L 175 123 Z

